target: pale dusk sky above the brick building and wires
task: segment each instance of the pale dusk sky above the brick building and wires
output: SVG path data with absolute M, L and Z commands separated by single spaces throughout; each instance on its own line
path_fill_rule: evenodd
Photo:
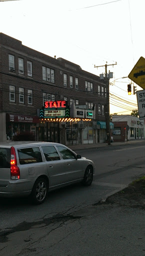
M 0 32 L 96 75 L 105 69 L 94 65 L 107 61 L 110 113 L 129 114 L 136 95 L 128 95 L 131 81 L 121 77 L 145 56 L 144 9 L 145 0 L 0 0 Z

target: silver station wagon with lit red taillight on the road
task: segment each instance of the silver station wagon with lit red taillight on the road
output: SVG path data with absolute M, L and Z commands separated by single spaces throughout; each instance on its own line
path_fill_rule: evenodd
M 48 190 L 82 181 L 89 186 L 94 164 L 52 142 L 0 143 L 0 196 L 30 195 L 42 203 Z

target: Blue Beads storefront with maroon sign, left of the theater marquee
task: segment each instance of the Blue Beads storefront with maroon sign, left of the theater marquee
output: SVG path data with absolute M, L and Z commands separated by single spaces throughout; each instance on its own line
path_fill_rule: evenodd
M 12 140 L 14 135 L 22 131 L 33 133 L 35 140 L 38 140 L 39 122 L 38 116 L 6 113 L 7 140 Z

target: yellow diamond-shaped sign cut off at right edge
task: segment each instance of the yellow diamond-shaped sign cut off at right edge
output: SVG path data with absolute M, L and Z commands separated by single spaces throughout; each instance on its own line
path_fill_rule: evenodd
M 138 59 L 128 77 L 142 89 L 145 89 L 145 58 L 140 57 Z

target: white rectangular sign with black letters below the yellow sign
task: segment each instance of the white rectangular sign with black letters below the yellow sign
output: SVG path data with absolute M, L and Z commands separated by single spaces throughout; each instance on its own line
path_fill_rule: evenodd
M 145 119 L 145 90 L 137 90 L 136 95 L 139 119 Z

